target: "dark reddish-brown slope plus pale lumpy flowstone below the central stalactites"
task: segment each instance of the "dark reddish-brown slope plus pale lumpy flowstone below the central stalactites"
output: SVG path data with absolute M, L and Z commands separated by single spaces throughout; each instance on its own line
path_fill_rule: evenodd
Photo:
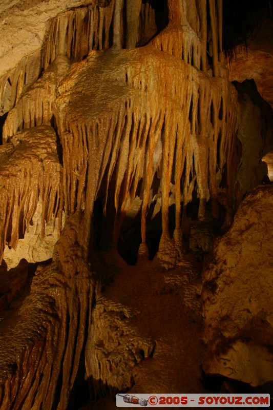
M 196 360 L 201 278 L 194 261 L 162 272 L 155 261 L 128 268 L 112 260 L 118 273 L 97 300 L 86 344 L 93 398 L 129 386 L 132 393 L 204 391 Z

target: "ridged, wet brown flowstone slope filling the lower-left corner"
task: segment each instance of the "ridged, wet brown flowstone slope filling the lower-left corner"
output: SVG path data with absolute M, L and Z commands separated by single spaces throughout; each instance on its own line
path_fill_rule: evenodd
M 79 222 L 67 223 L 58 257 L 36 270 L 30 291 L 9 306 L 1 322 L 3 408 L 68 406 L 86 323 L 100 289 L 82 257 L 75 231 Z

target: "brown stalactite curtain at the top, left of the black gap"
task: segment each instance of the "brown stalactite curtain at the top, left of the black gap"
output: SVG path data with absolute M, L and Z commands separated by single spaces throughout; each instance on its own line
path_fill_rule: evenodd
M 57 55 L 66 55 L 73 61 L 87 56 L 90 50 L 106 50 L 114 45 L 114 25 L 119 25 L 119 41 L 123 48 L 134 48 L 150 40 L 156 33 L 155 11 L 150 2 L 124 2 L 120 7 L 118 23 L 114 22 L 119 1 L 107 7 L 91 5 L 59 14 L 52 20 L 45 43 L 44 67 Z M 125 12 L 126 10 L 126 12 Z

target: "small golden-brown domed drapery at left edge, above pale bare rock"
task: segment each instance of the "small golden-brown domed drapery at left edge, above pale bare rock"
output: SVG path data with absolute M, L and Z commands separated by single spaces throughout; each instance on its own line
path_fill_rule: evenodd
M 41 126 L 19 132 L 12 142 L 0 148 L 0 153 L 6 153 L 7 146 L 10 150 L 0 163 L 0 263 L 6 242 L 16 249 L 38 200 L 42 203 L 42 237 L 45 223 L 52 215 L 54 219 L 57 213 L 61 216 L 62 209 L 61 166 L 54 130 Z

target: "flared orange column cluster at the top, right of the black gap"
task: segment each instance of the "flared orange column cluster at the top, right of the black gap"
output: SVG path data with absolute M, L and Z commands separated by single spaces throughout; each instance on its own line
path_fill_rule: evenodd
M 169 0 L 169 26 L 152 44 L 207 73 L 219 75 L 222 52 L 222 0 Z

